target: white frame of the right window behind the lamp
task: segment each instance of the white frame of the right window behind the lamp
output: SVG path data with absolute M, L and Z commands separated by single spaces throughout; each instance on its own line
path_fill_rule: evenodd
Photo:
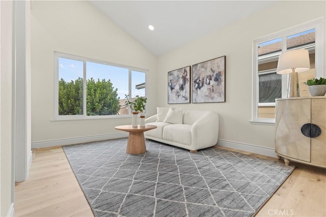
M 263 124 L 263 125 L 275 125 L 275 119 L 269 118 L 258 118 L 258 106 L 259 106 L 259 79 L 258 79 L 258 44 L 282 38 L 282 51 L 278 51 L 275 53 L 271 53 L 271 55 L 267 58 L 276 58 L 282 52 L 287 50 L 286 41 L 288 36 L 305 32 L 311 29 L 315 29 L 315 77 L 325 77 L 325 68 L 324 68 L 324 21 L 323 18 L 318 18 L 309 22 L 305 22 L 291 28 L 279 31 L 277 33 L 273 33 L 253 41 L 253 88 L 252 88 L 252 120 L 250 121 L 252 124 Z M 295 48 L 298 49 L 298 48 Z M 289 49 L 291 50 L 291 49 Z M 258 58 L 257 58 L 258 57 Z M 289 79 L 289 75 L 282 75 L 282 98 L 286 97 L 286 89 L 287 89 L 287 81 Z

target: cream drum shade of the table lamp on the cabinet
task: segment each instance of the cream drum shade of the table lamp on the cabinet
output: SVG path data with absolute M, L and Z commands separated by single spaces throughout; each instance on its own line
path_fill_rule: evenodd
M 305 72 L 310 69 L 308 50 L 296 49 L 281 53 L 276 73 L 289 74 L 293 68 L 296 72 Z

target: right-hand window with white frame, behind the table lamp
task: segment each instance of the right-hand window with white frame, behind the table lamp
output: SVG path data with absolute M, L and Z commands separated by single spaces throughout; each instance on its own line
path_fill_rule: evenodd
M 275 122 L 275 99 L 286 97 L 288 75 L 276 73 L 279 56 L 293 49 L 307 49 L 310 70 L 299 73 L 300 94 L 310 96 L 307 79 L 324 76 L 322 19 L 271 34 L 254 41 L 252 122 Z

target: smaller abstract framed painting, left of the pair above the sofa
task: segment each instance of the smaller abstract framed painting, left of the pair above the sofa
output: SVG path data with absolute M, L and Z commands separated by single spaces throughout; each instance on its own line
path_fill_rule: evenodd
M 168 104 L 190 103 L 190 66 L 168 72 Z

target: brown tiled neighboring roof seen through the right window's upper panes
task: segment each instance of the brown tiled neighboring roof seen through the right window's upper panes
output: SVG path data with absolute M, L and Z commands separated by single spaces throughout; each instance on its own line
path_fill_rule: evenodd
M 315 32 L 308 33 L 305 35 L 293 37 L 287 40 L 288 48 L 296 47 L 304 44 L 310 44 L 315 42 Z M 272 53 L 282 50 L 282 43 L 276 42 L 273 44 L 268 44 L 265 46 L 258 47 L 258 56 L 265 55 L 267 53 Z

